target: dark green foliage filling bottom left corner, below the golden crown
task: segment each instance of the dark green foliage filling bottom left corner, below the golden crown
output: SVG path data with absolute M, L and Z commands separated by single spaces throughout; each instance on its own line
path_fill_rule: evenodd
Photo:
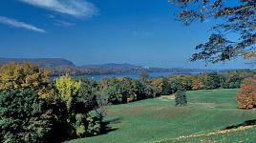
M 48 103 L 31 90 L 0 93 L 1 142 L 47 142 L 53 130 Z

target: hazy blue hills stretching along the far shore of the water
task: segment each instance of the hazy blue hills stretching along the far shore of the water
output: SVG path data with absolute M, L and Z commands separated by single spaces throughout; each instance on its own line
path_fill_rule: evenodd
M 29 61 L 34 65 L 39 65 L 41 68 L 49 68 L 52 75 L 85 75 L 85 74 L 106 74 L 106 73 L 134 73 L 134 72 L 209 72 L 199 69 L 183 69 L 183 68 L 154 68 L 137 66 L 128 63 L 108 63 L 101 65 L 85 65 L 75 66 L 75 64 L 64 58 L 1 58 L 0 66 L 10 62 L 24 62 Z

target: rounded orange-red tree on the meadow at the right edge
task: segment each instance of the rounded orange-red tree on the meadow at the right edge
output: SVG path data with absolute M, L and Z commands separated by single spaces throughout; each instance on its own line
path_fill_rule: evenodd
M 237 94 L 237 101 L 241 109 L 256 107 L 256 76 L 245 79 Z

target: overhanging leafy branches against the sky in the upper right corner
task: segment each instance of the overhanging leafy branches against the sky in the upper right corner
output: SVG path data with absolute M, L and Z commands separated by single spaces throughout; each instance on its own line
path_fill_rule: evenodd
M 185 25 L 200 20 L 214 22 L 208 42 L 196 47 L 192 61 L 216 63 L 232 58 L 256 56 L 256 1 L 255 0 L 169 0 L 180 8 L 177 17 Z M 221 22 L 219 22 L 221 21 Z M 235 38 L 237 37 L 237 38 Z

